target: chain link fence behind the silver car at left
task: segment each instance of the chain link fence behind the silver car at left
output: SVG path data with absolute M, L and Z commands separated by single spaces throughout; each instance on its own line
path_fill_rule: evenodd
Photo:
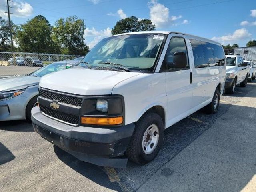
M 0 52 L 0 78 L 26 75 L 47 64 L 81 59 L 81 55 L 38 54 L 22 52 Z

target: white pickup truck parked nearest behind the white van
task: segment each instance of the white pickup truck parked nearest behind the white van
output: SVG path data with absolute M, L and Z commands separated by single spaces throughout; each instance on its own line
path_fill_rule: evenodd
M 234 94 L 236 85 L 240 83 L 241 87 L 247 85 L 247 79 L 250 73 L 250 66 L 244 63 L 239 55 L 226 55 L 226 82 L 225 90 L 229 94 Z

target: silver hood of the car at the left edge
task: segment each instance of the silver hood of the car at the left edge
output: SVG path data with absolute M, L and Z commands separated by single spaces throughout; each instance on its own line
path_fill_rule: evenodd
M 40 77 L 14 76 L 0 79 L 0 91 L 26 89 L 28 86 L 38 85 Z

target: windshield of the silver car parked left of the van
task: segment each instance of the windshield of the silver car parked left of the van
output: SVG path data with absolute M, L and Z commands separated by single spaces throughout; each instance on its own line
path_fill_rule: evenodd
M 64 69 L 66 69 L 66 63 L 52 63 L 52 64 L 48 64 L 48 65 L 36 70 L 32 74 L 30 74 L 30 76 L 42 77 L 42 76 L 50 74 L 52 72 L 57 72 L 57 71 L 64 70 Z

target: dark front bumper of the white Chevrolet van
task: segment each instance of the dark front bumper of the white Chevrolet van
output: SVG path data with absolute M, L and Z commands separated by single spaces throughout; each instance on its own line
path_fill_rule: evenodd
M 126 151 L 135 125 L 115 128 L 71 126 L 44 116 L 32 109 L 34 130 L 44 139 L 79 160 L 100 166 L 125 167 L 126 158 L 116 158 Z

